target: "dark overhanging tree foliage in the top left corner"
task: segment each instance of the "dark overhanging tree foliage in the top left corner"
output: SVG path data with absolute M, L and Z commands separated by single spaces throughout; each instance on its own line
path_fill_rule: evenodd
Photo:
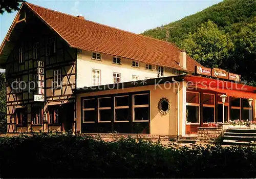
M 17 11 L 19 9 L 20 3 L 24 0 L 1 0 L 0 1 L 0 14 L 6 12 L 12 12 L 12 10 Z

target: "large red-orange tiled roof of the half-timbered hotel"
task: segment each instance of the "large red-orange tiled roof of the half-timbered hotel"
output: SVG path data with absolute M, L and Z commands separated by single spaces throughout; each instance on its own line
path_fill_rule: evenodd
M 174 44 L 25 3 L 71 47 L 183 70 Z M 199 65 L 187 55 L 187 70 Z

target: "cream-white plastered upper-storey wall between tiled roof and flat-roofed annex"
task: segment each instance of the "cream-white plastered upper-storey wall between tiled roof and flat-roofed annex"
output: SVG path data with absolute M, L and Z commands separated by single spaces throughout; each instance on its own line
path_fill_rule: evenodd
M 133 81 L 132 76 L 139 76 L 139 80 L 146 78 L 157 78 L 158 66 L 156 70 L 146 70 L 145 63 L 140 62 L 140 67 L 132 66 L 131 59 L 121 58 L 122 64 L 112 63 L 113 57 L 107 54 L 101 54 L 101 60 L 91 59 L 89 51 L 82 51 L 77 55 L 77 79 L 76 87 L 92 86 L 92 69 L 101 71 L 101 85 L 113 83 L 113 72 L 121 74 L 121 82 Z M 173 76 L 170 68 L 164 69 L 164 76 Z M 179 73 L 179 72 L 178 72 Z

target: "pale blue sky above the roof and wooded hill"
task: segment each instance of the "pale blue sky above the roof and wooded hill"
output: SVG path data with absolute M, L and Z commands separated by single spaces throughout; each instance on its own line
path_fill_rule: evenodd
M 68 13 L 118 29 L 142 33 L 202 11 L 222 0 L 201 1 L 121 1 L 121 0 L 28 0 L 27 2 Z M 17 11 L 0 14 L 0 41 L 12 24 Z

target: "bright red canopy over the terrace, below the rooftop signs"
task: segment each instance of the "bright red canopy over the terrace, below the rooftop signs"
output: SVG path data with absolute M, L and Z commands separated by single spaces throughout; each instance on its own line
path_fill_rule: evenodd
M 256 99 L 256 87 L 242 83 L 192 75 L 186 75 L 184 81 L 187 82 L 187 87 L 205 89 L 231 97 Z

